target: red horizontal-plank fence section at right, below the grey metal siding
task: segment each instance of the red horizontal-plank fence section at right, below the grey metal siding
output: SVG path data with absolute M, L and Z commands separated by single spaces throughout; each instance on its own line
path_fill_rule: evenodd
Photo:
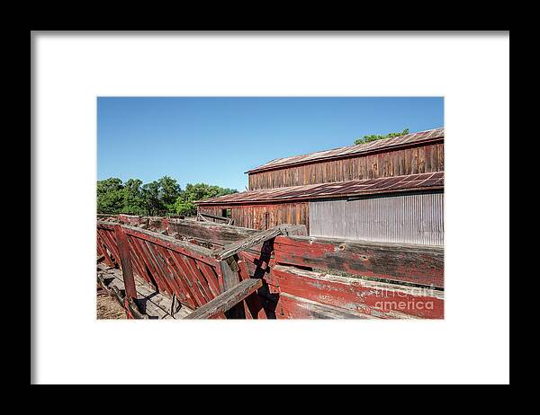
M 277 236 L 274 250 L 275 318 L 444 318 L 442 247 Z

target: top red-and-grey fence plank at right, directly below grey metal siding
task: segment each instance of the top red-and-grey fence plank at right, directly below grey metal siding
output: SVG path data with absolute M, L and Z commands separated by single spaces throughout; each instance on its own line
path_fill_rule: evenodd
M 445 254 L 439 246 L 277 236 L 274 252 L 280 264 L 444 287 Z

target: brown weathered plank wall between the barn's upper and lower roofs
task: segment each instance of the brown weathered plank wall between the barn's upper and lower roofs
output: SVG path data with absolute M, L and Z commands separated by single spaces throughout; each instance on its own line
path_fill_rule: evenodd
M 444 142 L 249 174 L 249 190 L 443 172 Z

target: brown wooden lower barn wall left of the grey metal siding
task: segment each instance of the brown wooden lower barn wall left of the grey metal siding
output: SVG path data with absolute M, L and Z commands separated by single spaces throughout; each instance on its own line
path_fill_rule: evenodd
M 199 211 L 211 215 L 221 215 L 222 209 L 230 209 L 234 225 L 257 230 L 273 226 L 291 224 L 306 225 L 310 231 L 309 202 L 274 203 L 252 205 L 200 206 Z

